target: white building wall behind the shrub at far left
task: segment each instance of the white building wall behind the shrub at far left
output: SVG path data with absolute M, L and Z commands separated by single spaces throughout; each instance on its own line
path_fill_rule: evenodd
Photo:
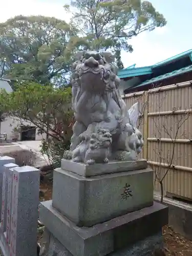
M 20 127 L 20 125 L 30 125 L 30 126 L 35 126 L 33 123 L 29 122 L 29 121 L 25 121 L 25 120 L 20 120 L 17 119 L 16 117 L 7 117 L 5 119 L 5 121 L 3 121 L 1 123 L 1 134 L 7 134 L 7 139 L 8 140 L 12 140 L 13 138 L 13 134 L 12 131 L 14 129 L 14 127 Z M 35 136 L 35 140 L 42 140 L 42 139 L 46 138 L 46 134 L 40 134 L 38 135 L 38 129 L 36 129 L 36 136 Z M 18 140 L 20 140 L 20 133 L 19 133 L 19 138 Z

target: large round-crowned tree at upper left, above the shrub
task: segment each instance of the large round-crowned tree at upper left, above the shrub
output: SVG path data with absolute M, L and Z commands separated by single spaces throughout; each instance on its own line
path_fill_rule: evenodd
M 16 16 L 0 24 L 0 56 L 11 78 L 40 84 L 66 83 L 76 30 L 65 21 L 44 16 Z M 62 79 L 61 79 L 62 78 Z

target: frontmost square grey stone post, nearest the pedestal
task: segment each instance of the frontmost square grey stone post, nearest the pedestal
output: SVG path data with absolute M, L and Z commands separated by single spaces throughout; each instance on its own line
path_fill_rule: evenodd
M 13 169 L 10 255 L 34 256 L 37 250 L 39 170 L 32 166 Z

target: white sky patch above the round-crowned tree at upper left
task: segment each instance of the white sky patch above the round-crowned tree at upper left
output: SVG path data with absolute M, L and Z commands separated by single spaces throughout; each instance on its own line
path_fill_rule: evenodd
M 1 3 L 0 22 L 6 22 L 8 18 L 16 15 L 43 15 L 65 19 L 69 21 L 70 15 L 66 13 L 62 7 L 64 5 L 59 3 L 46 3 L 40 0 L 5 0 Z

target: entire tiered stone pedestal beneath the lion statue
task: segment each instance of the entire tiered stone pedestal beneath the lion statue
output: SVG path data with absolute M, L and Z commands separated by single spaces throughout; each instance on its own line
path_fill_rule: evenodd
M 54 170 L 53 200 L 40 206 L 42 255 L 142 256 L 162 246 L 168 211 L 153 203 L 153 170 L 143 160 L 110 165 L 65 160 Z

